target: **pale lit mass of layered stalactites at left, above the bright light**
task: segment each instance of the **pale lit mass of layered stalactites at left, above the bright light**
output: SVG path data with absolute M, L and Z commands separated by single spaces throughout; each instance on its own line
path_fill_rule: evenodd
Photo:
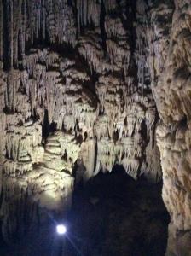
M 26 55 L 25 70 L 11 69 L 9 73 L 1 73 L 0 150 L 3 172 L 7 177 L 32 172 L 32 163 L 43 160 L 49 165 L 54 163 L 49 155 L 55 155 L 55 146 L 48 143 L 43 157 L 41 125 L 45 109 L 49 124 L 54 122 L 57 130 L 64 129 L 72 134 L 72 143 L 75 144 L 76 137 L 94 137 L 96 105 L 92 104 L 90 92 L 86 89 L 86 95 L 83 88 L 83 83 L 90 82 L 90 77 L 82 69 L 78 70 L 75 64 L 75 61 L 61 58 L 50 49 L 31 49 Z M 32 118 L 34 115 L 38 117 L 37 122 Z M 62 132 L 62 137 L 67 138 L 67 134 Z M 71 150 L 74 146 L 71 144 Z M 62 157 L 65 149 L 62 143 L 60 147 Z M 52 153 L 50 148 L 53 148 Z M 72 172 L 70 154 L 73 153 L 67 152 L 69 165 L 66 160 L 61 160 L 61 165 Z M 75 155 L 74 162 L 78 153 Z M 57 164 L 56 159 L 55 166 Z

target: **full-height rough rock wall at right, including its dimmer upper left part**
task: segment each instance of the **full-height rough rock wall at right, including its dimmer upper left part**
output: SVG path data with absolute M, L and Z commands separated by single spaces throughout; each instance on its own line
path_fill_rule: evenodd
M 160 118 L 156 138 L 163 172 L 162 196 L 171 215 L 166 255 L 190 255 L 191 2 L 155 3 L 147 38 L 151 87 Z

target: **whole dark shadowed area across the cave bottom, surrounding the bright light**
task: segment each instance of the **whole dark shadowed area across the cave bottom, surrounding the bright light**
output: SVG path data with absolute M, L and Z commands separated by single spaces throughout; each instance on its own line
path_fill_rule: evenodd
M 114 166 L 113 172 L 99 173 L 75 187 L 65 219 L 67 238 L 55 234 L 55 215 L 49 218 L 42 210 L 38 214 L 44 215 L 43 221 L 31 223 L 26 211 L 25 236 L 18 230 L 14 243 L 6 244 L 0 234 L 0 255 L 164 256 L 170 218 L 161 188 L 161 183 L 148 183 L 144 177 L 135 181 Z M 28 198 L 26 208 L 31 204 Z

